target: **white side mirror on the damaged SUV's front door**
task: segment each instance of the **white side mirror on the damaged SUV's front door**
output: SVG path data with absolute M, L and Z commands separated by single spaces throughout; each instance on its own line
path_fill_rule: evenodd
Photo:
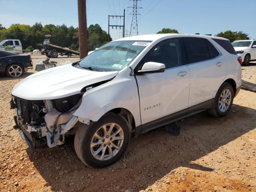
M 142 66 L 141 70 L 138 70 L 136 74 L 148 74 L 148 73 L 162 73 L 165 70 L 165 65 L 157 62 L 146 62 Z

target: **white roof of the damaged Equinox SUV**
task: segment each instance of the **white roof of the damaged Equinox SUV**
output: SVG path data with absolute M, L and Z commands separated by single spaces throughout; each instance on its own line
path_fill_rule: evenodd
M 114 41 L 121 41 L 121 40 L 144 40 L 144 41 L 154 41 L 164 37 L 203 37 L 203 38 L 214 38 L 214 39 L 221 39 L 221 40 L 228 40 L 222 37 L 216 36 L 209 36 L 209 35 L 195 35 L 195 34 L 149 34 L 149 35 L 138 35 L 138 36 L 130 36 L 125 38 L 120 38 Z

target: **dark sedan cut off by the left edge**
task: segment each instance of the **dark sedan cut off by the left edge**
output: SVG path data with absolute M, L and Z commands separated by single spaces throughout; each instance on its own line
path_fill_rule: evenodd
M 0 50 L 0 73 L 8 77 L 20 77 L 28 68 L 33 68 L 30 55 Z

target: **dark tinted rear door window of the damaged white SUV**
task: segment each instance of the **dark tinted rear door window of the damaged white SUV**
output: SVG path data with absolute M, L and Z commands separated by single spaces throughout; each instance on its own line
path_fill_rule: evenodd
M 187 63 L 196 63 L 210 59 L 208 40 L 204 38 L 183 38 Z

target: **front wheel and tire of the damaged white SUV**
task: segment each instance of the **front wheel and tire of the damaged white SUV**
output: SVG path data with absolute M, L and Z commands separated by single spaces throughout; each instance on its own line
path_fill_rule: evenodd
M 81 124 L 76 131 L 74 148 L 84 164 L 103 168 L 114 164 L 130 142 L 130 128 L 121 115 L 108 114 L 90 125 Z

